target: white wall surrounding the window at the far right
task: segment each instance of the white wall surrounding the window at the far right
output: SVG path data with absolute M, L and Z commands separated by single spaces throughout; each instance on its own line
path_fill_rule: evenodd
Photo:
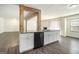
M 79 32 L 71 31 L 70 21 L 79 19 L 79 15 L 63 17 L 61 19 L 61 35 L 79 38 Z

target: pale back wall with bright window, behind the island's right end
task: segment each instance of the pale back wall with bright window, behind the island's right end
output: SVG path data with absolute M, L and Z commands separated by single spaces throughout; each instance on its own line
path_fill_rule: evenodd
M 57 19 L 43 20 L 41 24 L 42 24 L 41 26 L 42 30 L 43 27 L 47 27 L 47 29 L 49 30 L 60 30 L 60 21 Z

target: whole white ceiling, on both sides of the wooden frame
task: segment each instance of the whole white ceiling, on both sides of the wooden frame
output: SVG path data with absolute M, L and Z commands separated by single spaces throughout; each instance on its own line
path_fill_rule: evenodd
M 26 4 L 26 6 L 37 8 L 41 10 L 42 20 L 67 16 L 79 13 L 79 6 L 69 8 L 68 4 Z M 0 5 L 0 17 L 5 18 L 19 18 L 18 5 Z

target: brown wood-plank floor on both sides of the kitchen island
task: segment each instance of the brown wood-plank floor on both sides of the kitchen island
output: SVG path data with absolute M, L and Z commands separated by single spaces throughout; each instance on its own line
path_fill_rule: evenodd
M 19 53 L 19 33 L 0 34 L 0 53 Z M 79 54 L 79 39 L 60 37 L 59 42 L 24 52 L 24 54 Z

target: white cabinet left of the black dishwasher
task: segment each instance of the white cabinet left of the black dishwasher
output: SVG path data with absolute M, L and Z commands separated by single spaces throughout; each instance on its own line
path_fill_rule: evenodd
M 24 52 L 34 48 L 34 34 L 20 34 L 20 52 Z

